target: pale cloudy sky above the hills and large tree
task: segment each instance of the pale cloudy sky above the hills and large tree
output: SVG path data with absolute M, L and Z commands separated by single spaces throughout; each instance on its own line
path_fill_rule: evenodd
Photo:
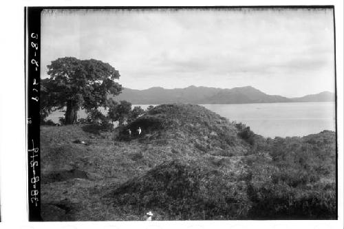
M 109 63 L 131 89 L 334 92 L 333 37 L 332 10 L 45 10 L 41 78 L 74 56 Z

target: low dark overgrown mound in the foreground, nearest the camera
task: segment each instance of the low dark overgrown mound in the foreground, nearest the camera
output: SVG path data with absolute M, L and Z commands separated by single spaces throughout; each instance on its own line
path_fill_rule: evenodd
M 228 182 L 222 171 L 200 164 L 173 160 L 156 166 L 111 193 L 114 205 L 137 213 L 151 209 L 160 220 L 244 219 L 245 183 Z

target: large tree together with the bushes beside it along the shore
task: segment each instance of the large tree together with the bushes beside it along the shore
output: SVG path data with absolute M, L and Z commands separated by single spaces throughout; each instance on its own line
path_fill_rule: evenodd
M 52 61 L 47 69 L 50 77 L 41 80 L 41 124 L 54 124 L 46 118 L 61 109 L 65 116 L 59 124 L 92 123 L 104 129 L 112 127 L 111 122 L 122 126 L 144 113 L 141 107 L 131 109 L 126 100 L 113 100 L 122 92 L 122 85 L 115 81 L 119 72 L 108 63 L 64 57 Z M 100 112 L 100 107 L 107 113 Z M 78 120 L 79 109 L 85 109 L 87 118 Z

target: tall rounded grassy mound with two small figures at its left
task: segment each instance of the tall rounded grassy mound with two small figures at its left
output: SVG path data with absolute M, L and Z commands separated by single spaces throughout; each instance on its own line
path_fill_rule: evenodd
M 141 127 L 138 136 L 136 129 Z M 127 129 L 133 135 L 129 138 Z M 239 155 L 246 153 L 249 144 L 242 138 L 242 129 L 234 122 L 200 105 L 160 105 L 147 114 L 119 129 L 118 140 L 135 140 L 152 142 L 162 140 L 164 144 L 182 141 L 192 144 L 203 153 L 220 153 L 222 155 Z

